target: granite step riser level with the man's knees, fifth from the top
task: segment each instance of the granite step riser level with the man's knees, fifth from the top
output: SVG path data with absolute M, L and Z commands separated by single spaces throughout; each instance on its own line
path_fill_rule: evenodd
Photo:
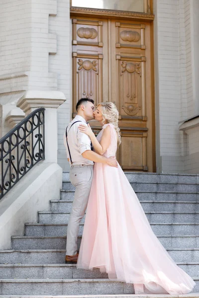
M 145 212 L 149 223 L 199 223 L 199 212 Z M 40 224 L 68 224 L 70 213 L 56 211 L 38 212 Z M 85 221 L 82 219 L 81 224 Z

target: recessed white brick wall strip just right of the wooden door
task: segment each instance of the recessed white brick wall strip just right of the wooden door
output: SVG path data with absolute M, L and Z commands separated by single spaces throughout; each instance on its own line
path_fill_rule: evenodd
M 159 112 L 156 111 L 159 123 L 156 125 L 159 125 L 160 129 L 159 152 L 161 159 L 159 158 L 159 162 L 162 162 L 161 165 L 157 164 L 157 167 L 164 172 L 164 166 L 169 164 L 170 160 L 171 167 L 176 168 L 175 159 L 172 157 L 180 156 L 181 153 L 178 131 L 181 112 L 178 1 L 157 0 L 155 16 L 157 18 L 156 52 L 158 53 L 156 65 L 159 80 Z M 164 162 L 165 157 L 167 157 L 166 162 Z

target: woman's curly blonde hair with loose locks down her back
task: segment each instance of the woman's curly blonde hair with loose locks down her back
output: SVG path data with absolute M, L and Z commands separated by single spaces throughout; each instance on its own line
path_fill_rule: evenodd
M 121 137 L 119 134 L 119 127 L 118 127 L 118 118 L 119 118 L 119 112 L 117 111 L 116 106 L 112 102 L 100 102 L 98 104 L 98 107 L 101 107 L 101 114 L 103 117 L 102 122 L 105 124 L 105 121 L 107 123 L 111 123 L 117 133 L 117 144 L 118 146 L 121 144 Z

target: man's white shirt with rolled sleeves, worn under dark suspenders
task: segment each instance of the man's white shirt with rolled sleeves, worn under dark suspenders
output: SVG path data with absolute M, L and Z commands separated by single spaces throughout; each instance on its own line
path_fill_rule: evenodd
M 76 122 L 72 127 L 71 125 Z M 71 152 L 71 159 L 73 165 L 75 164 L 94 164 L 93 161 L 86 159 L 82 156 L 82 153 L 91 150 L 91 139 L 84 133 L 81 133 L 78 129 L 80 124 L 87 126 L 86 120 L 79 115 L 76 115 L 75 118 L 69 123 L 67 133 L 68 133 L 68 146 Z M 66 133 L 64 133 L 64 146 L 66 147 L 67 158 L 71 164 L 70 155 L 68 151 L 68 146 L 66 142 Z

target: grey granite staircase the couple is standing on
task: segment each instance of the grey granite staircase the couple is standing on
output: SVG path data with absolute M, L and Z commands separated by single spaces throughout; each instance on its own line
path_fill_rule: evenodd
M 197 284 L 194 293 L 183 297 L 199 297 L 196 294 L 199 292 L 199 175 L 126 173 L 126 176 L 155 234 L 178 266 Z M 25 224 L 24 236 L 13 236 L 11 249 L 0 251 L 1 298 L 73 295 L 119 298 L 133 294 L 132 285 L 110 281 L 97 269 L 87 271 L 64 264 L 73 197 L 69 173 L 64 172 L 60 200 L 51 201 L 49 211 L 38 213 L 38 223 Z M 83 227 L 84 218 L 79 229 L 79 245 Z

